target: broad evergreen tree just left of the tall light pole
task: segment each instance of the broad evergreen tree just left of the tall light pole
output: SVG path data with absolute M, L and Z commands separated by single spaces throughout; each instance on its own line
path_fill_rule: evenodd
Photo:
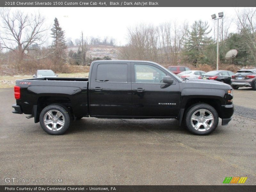
M 188 60 L 193 63 L 205 63 L 207 56 L 205 55 L 205 47 L 212 43 L 211 37 L 207 35 L 212 31 L 208 30 L 208 22 L 202 20 L 195 21 L 189 31 L 188 42 L 186 43 L 186 54 Z

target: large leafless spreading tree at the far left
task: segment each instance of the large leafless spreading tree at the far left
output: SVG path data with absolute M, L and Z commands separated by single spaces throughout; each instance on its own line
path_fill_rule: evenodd
M 2 19 L 0 46 L 17 52 L 19 61 L 23 60 L 24 51 L 31 49 L 32 44 L 44 43 L 44 17 L 38 14 L 25 14 L 20 10 L 11 12 L 11 9 L 1 8 Z

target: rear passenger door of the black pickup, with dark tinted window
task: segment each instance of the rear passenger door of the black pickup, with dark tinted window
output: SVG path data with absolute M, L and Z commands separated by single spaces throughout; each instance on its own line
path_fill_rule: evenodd
M 131 116 L 130 62 L 94 63 L 91 74 L 91 116 Z

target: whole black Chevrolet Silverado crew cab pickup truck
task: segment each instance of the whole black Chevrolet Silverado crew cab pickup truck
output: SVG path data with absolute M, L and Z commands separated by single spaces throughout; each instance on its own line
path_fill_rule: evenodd
M 28 114 L 45 132 L 60 135 L 82 117 L 176 118 L 188 130 L 206 135 L 234 112 L 228 84 L 181 79 L 150 61 L 100 60 L 89 78 L 17 80 L 13 113 Z

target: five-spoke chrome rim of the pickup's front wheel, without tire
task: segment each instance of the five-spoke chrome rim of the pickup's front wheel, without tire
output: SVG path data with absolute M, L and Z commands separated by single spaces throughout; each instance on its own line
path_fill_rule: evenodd
M 207 131 L 212 128 L 214 117 L 207 109 L 196 110 L 190 119 L 192 127 L 197 131 Z

